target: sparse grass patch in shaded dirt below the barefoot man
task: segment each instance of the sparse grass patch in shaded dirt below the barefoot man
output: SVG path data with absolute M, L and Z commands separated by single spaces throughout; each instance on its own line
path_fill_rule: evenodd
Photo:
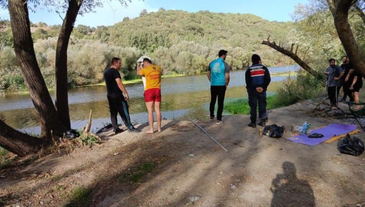
M 152 172 L 156 168 L 154 163 L 144 163 L 136 168 L 129 170 L 127 173 L 122 173 L 118 177 L 118 182 L 141 182 L 147 173 Z

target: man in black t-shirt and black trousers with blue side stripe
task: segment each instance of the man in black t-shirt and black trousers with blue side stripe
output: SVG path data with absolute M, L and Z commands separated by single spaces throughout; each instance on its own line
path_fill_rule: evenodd
M 139 133 L 140 131 L 133 127 L 131 118 L 129 117 L 128 104 L 126 102 L 129 97 L 128 92 L 122 83 L 120 73 L 118 72 L 120 65 L 121 61 L 119 58 L 112 58 L 110 69 L 107 69 L 104 72 L 104 80 L 108 91 L 107 97 L 110 108 L 111 125 L 113 126 L 113 132 L 115 134 L 122 132 L 122 130 L 118 128 L 116 118 L 119 113 L 125 126 L 128 128 L 128 132 Z

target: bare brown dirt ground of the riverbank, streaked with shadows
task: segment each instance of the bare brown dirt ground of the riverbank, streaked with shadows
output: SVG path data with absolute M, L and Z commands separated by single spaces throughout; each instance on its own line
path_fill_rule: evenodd
M 269 123 L 333 121 L 301 103 L 269 111 Z M 365 202 L 365 153 L 340 154 L 337 142 L 311 147 L 258 138 L 249 116 L 199 121 L 224 152 L 189 121 L 163 121 L 163 132 L 123 132 L 92 149 L 49 155 L 0 171 L 0 199 L 18 206 L 285 206 L 339 207 Z M 331 121 L 331 122 L 329 122 Z M 146 125 L 139 126 L 146 130 Z M 365 141 L 364 133 L 358 134 Z M 78 190 L 78 191 L 77 191 Z M 77 194 L 81 192 L 81 196 Z M 85 200 L 82 203 L 83 199 Z

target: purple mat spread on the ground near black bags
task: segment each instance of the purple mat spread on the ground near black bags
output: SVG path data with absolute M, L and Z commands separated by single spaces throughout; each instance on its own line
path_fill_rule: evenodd
M 356 125 L 350 124 L 329 124 L 328 127 L 324 127 L 321 129 L 312 130 L 311 133 L 307 135 L 296 135 L 294 137 L 288 138 L 292 142 L 306 144 L 310 146 L 315 146 L 323 141 L 326 141 L 333 136 L 347 134 L 356 130 Z M 324 135 L 323 138 L 308 138 L 309 135 L 318 133 Z

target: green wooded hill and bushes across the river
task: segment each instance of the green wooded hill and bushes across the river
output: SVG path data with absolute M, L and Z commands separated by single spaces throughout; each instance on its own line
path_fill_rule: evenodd
M 27 88 L 12 48 L 10 22 L 2 20 L 0 24 L 0 92 L 25 91 Z M 60 29 L 60 25 L 31 23 L 37 62 L 48 89 L 55 88 L 55 55 Z M 140 78 L 135 73 L 136 60 L 144 54 L 152 57 L 165 75 L 205 72 L 222 48 L 229 51 L 226 61 L 233 70 L 250 65 L 254 52 L 264 57 L 267 66 L 290 65 L 293 63 L 290 58 L 277 55 L 261 45 L 260 40 L 269 34 L 284 38 L 292 29 L 291 22 L 270 22 L 252 14 L 164 9 L 151 13 L 142 11 L 140 17 L 124 18 L 110 27 L 78 25 L 68 47 L 68 86 L 101 83 L 103 72 L 114 56 L 122 59 L 120 73 L 124 80 Z

